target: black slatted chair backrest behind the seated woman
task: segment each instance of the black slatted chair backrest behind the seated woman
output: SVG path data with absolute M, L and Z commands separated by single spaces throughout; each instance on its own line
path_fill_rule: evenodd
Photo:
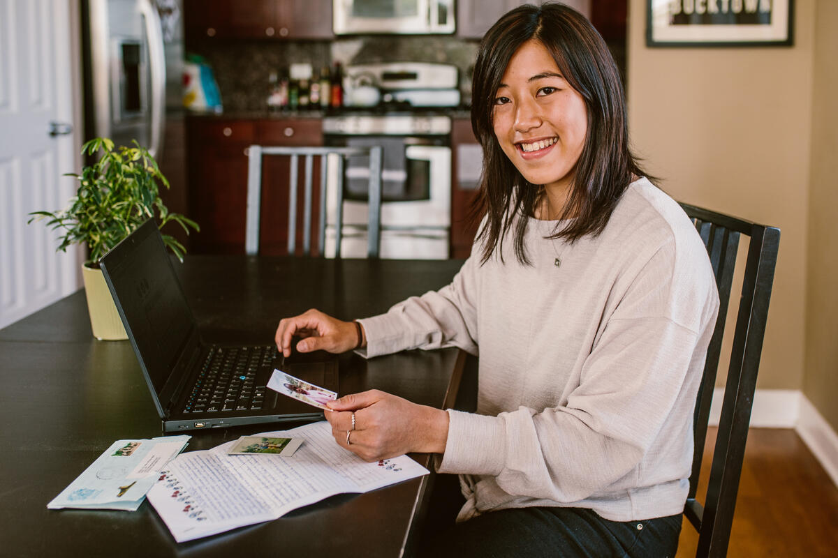
M 697 556 L 727 555 L 736 507 L 747 428 L 751 418 L 753 393 L 757 384 L 759 357 L 763 349 L 768 301 L 771 299 L 774 267 L 777 263 L 780 231 L 701 207 L 681 204 L 696 225 L 707 247 L 719 290 L 719 316 L 707 349 L 707 360 L 699 387 L 693 422 L 696 445 L 693 455 L 690 493 L 684 514 L 698 531 Z M 747 248 L 742 295 L 733 333 L 730 365 L 722 402 L 716 445 L 702 506 L 696 501 L 701 458 L 706 441 L 707 422 L 716 370 L 722 352 L 727 306 L 731 298 L 733 268 L 740 236 L 750 237 Z

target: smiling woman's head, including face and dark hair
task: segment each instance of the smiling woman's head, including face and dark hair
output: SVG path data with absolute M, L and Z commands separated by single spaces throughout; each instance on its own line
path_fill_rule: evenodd
M 484 261 L 510 227 L 509 207 L 562 221 L 554 238 L 573 242 L 601 233 L 629 182 L 649 177 L 629 151 L 623 83 L 608 46 L 587 19 L 563 6 L 513 10 L 489 29 L 474 67 L 472 127 L 485 157 L 473 212 L 487 218 L 480 230 Z M 544 140 L 560 146 L 551 150 L 557 151 L 551 164 L 561 162 L 534 174 L 548 157 L 542 165 L 541 157 L 520 151 Z M 556 188 L 544 187 L 560 177 Z M 529 261 L 525 229 L 525 222 L 516 224 L 521 262 Z

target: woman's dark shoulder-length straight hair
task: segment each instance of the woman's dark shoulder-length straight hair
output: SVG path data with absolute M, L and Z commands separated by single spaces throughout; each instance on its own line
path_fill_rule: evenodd
M 587 109 L 587 134 L 572 191 L 551 238 L 573 243 L 602 233 L 633 175 L 646 175 L 629 149 L 623 82 L 602 36 L 582 14 L 561 3 L 513 9 L 481 41 L 472 81 L 472 129 L 484 152 L 472 218 L 486 217 L 478 232 L 483 263 L 496 249 L 503 260 L 503 238 L 514 222 L 515 256 L 521 264 L 530 263 L 524 245 L 527 219 L 515 221 L 515 215 L 534 215 L 542 188 L 521 176 L 499 146 L 492 125 L 494 99 L 506 66 L 530 39 L 545 46 Z

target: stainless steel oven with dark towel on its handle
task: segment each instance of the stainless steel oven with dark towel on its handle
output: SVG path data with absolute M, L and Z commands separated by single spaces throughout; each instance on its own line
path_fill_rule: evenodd
M 328 146 L 383 147 L 381 257 L 447 259 L 451 228 L 451 119 L 441 115 L 346 115 L 323 119 Z M 341 255 L 366 254 L 369 161 L 344 177 Z M 334 253 L 335 180 L 327 182 L 326 254 Z

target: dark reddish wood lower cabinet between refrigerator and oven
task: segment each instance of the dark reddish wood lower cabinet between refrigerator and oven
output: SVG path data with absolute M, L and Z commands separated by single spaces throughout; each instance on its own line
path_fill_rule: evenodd
M 321 129 L 319 118 L 190 118 L 189 216 L 201 226 L 199 233 L 192 234 L 190 253 L 244 253 L 249 146 L 321 146 Z M 301 179 L 303 168 L 301 161 Z M 314 170 L 318 183 L 317 166 Z M 263 159 L 261 253 L 287 253 L 288 176 L 287 160 L 272 156 Z M 298 199 L 302 204 L 302 193 Z M 298 212 L 302 215 L 302 207 Z M 302 234 L 300 220 L 297 238 Z

